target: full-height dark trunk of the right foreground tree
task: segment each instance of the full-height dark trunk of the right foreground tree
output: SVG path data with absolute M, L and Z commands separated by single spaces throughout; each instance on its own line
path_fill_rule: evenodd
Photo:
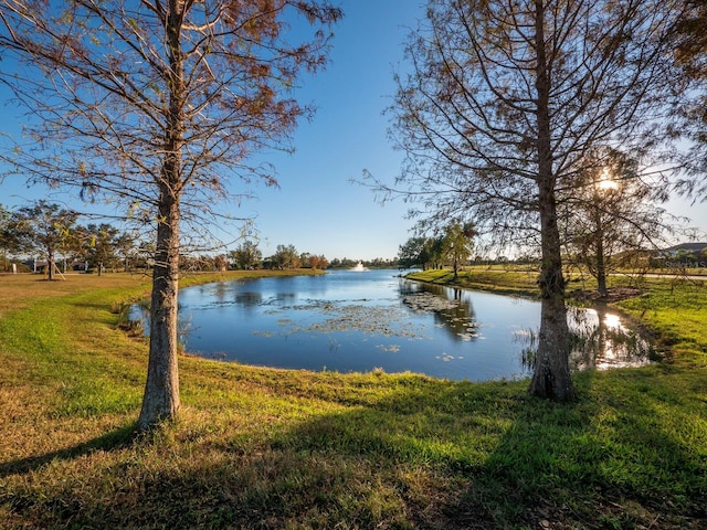
M 550 75 L 545 53 L 544 0 L 536 0 L 536 51 L 537 51 L 537 120 L 538 120 L 538 209 L 540 213 L 540 242 L 542 265 L 540 294 L 542 310 L 540 336 L 535 372 L 529 392 L 558 401 L 574 399 L 574 388 L 569 370 L 569 327 L 564 306 L 564 278 L 560 231 L 557 222 L 555 173 L 550 140 Z

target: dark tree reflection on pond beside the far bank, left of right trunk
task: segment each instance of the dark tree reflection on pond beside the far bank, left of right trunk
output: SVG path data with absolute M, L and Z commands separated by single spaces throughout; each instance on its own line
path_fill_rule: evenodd
M 435 327 L 444 329 L 455 340 L 471 341 L 478 337 L 471 296 L 462 289 L 405 280 L 400 282 L 399 288 L 402 303 L 408 308 L 415 312 L 431 312 Z

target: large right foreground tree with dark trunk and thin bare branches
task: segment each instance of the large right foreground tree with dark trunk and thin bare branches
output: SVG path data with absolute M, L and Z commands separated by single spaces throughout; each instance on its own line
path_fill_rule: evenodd
M 602 145 L 651 147 L 669 76 L 671 0 L 430 0 L 398 76 L 397 187 L 440 226 L 474 219 L 495 241 L 538 241 L 535 395 L 571 400 L 558 194 Z M 648 131 L 648 128 L 654 130 Z M 659 135 L 657 135 L 659 137 Z

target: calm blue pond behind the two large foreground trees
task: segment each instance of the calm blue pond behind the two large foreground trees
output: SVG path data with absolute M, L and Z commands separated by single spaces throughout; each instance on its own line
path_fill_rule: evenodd
M 231 280 L 180 292 L 190 353 L 276 368 L 529 377 L 540 304 L 400 277 L 398 271 Z M 572 311 L 574 369 L 640 365 L 650 344 L 621 316 Z

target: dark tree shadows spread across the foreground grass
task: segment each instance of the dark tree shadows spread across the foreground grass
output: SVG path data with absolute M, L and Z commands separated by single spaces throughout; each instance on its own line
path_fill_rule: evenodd
M 93 473 L 13 509 L 87 528 L 700 528 L 707 460 L 658 417 L 679 395 L 647 375 L 624 381 L 635 392 L 615 384 L 598 395 L 585 375 L 577 403 L 556 404 L 523 384 L 400 378 L 384 396 L 327 393 L 336 412 L 257 439 L 183 428 L 167 451 L 140 449 L 155 460 L 112 463 L 120 479 L 102 496 L 85 496 L 106 488 Z M 12 469 L 131 439 L 125 430 Z

